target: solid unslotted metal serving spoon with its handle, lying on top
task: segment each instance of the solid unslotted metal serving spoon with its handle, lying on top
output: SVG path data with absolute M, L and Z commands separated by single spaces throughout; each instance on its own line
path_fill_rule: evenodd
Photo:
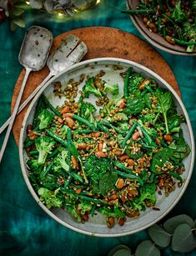
M 48 59 L 49 50 L 53 43 L 53 34 L 46 28 L 33 26 L 26 33 L 23 44 L 19 53 L 19 62 L 26 69 L 23 78 L 23 84 L 18 94 L 16 104 L 13 109 L 13 115 L 9 122 L 8 130 L 3 141 L 3 146 L 0 151 L 0 162 L 3 158 L 3 153 L 6 149 L 10 132 L 13 128 L 13 122 L 17 115 L 18 107 L 23 95 L 23 90 L 28 80 L 28 75 L 31 71 L 38 71 L 43 68 Z

